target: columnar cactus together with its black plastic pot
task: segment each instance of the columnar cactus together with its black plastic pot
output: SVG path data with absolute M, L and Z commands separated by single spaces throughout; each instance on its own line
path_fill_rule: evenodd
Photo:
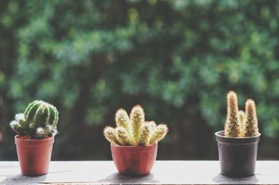
M 216 132 L 220 170 L 223 175 L 246 177 L 255 174 L 259 129 L 256 104 L 247 99 L 245 113 L 239 111 L 237 95 L 227 94 L 227 120 L 224 131 Z

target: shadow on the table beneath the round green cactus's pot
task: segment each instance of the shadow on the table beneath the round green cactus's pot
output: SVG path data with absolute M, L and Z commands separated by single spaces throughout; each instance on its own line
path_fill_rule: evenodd
M 28 177 L 21 174 L 7 176 L 0 184 L 34 184 L 44 182 L 47 175 L 40 175 L 38 177 Z

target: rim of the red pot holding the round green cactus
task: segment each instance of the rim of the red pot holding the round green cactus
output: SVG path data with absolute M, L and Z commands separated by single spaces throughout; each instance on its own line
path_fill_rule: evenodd
M 27 136 L 15 136 L 15 145 L 52 145 L 54 143 L 54 136 L 43 139 L 30 139 Z

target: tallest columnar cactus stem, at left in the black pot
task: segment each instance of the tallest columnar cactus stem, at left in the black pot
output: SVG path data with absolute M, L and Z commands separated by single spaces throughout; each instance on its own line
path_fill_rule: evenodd
M 225 123 L 225 136 L 237 137 L 240 134 L 239 106 L 234 91 L 227 94 L 227 120 Z

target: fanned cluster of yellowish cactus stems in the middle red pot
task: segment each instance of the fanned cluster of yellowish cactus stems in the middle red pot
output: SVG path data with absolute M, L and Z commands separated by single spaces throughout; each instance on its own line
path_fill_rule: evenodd
M 120 108 L 115 114 L 116 128 L 105 127 L 103 134 L 113 145 L 137 146 L 151 145 L 162 140 L 167 134 L 166 124 L 156 125 L 153 121 L 146 121 L 142 106 L 132 108 L 130 117 Z

